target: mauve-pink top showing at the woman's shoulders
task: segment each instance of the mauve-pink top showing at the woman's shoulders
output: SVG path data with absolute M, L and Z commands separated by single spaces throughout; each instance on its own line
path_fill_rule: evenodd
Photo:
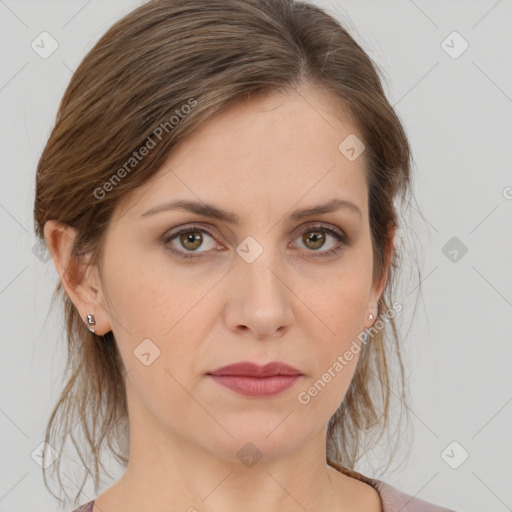
M 382 512 L 455 512 L 450 508 L 440 507 L 415 498 L 410 494 L 405 494 L 382 480 L 366 478 L 365 481 L 379 493 L 382 501 Z M 71 512 L 92 512 L 93 505 L 94 500 Z

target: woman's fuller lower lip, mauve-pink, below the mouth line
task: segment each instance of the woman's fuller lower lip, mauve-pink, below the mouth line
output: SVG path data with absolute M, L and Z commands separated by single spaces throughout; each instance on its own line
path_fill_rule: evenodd
M 271 377 L 243 377 L 235 375 L 210 375 L 219 384 L 241 395 L 275 396 L 290 389 L 302 375 L 273 375 Z

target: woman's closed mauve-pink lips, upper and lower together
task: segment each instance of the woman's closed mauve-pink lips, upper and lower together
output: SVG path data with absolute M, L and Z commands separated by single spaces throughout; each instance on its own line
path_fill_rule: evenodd
M 281 362 L 259 366 L 242 362 L 223 366 L 208 375 L 218 384 L 236 393 L 253 397 L 270 397 L 291 388 L 302 376 L 293 366 Z

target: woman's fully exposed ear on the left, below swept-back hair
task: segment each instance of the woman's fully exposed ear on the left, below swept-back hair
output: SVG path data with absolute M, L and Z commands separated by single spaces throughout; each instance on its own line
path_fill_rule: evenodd
M 44 225 L 46 245 L 68 297 L 86 325 L 87 315 L 94 314 L 94 333 L 101 336 L 111 330 L 101 282 L 97 269 L 87 264 L 88 258 L 72 254 L 76 235 L 75 228 L 55 220 Z

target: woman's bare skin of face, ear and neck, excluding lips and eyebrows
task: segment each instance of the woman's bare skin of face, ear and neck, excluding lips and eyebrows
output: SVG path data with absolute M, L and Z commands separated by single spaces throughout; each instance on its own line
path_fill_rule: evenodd
M 381 510 L 377 491 L 325 462 L 327 423 L 359 352 L 308 404 L 298 400 L 375 322 L 368 314 L 375 318 L 387 278 L 372 281 L 365 154 L 349 161 L 338 150 L 349 134 L 362 136 L 334 116 L 332 101 L 303 87 L 204 123 L 118 206 L 101 269 L 74 262 L 66 274 L 75 232 L 45 225 L 68 295 L 83 319 L 94 313 L 96 334 L 113 331 L 127 371 L 130 461 L 94 512 Z M 362 217 L 340 209 L 290 220 L 297 208 L 339 197 Z M 180 210 L 141 217 L 177 198 L 231 210 L 240 224 Z M 163 235 L 192 223 L 210 233 L 202 245 L 179 236 L 164 244 Z M 318 256 L 339 242 L 325 231 L 324 245 L 305 241 L 317 223 L 342 230 L 350 245 Z M 248 236 L 263 248 L 252 263 L 236 252 Z M 183 260 L 169 246 L 206 256 Z M 146 366 L 134 350 L 148 338 L 160 355 Z M 304 375 L 271 398 L 242 396 L 206 375 L 239 361 L 283 361 Z M 248 442 L 261 454 L 251 467 L 237 457 Z

